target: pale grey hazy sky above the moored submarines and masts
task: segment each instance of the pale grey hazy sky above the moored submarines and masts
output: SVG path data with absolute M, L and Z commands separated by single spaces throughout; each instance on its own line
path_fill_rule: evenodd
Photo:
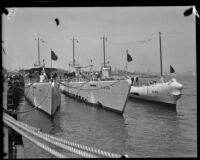
M 133 61 L 128 71 L 160 72 L 159 32 L 161 32 L 163 71 L 170 65 L 176 72 L 196 70 L 195 16 L 184 17 L 190 6 L 165 7 L 24 7 L 8 8 L 2 15 L 2 64 L 9 70 L 32 68 L 40 59 L 51 66 L 51 49 L 58 56 L 52 67 L 69 69 L 73 57 L 82 66 L 92 60 L 103 64 L 105 35 L 106 61 L 114 68 L 124 69 L 126 50 Z M 59 19 L 56 25 L 55 18 Z

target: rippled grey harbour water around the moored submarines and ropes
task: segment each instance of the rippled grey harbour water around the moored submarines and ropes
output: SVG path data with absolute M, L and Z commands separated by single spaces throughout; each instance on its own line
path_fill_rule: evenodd
M 60 138 L 129 157 L 197 157 L 196 77 L 175 78 L 184 86 L 176 109 L 128 99 L 121 116 L 61 95 L 62 104 L 54 119 L 32 111 L 21 114 L 19 120 Z M 25 102 L 19 110 L 30 108 Z M 26 138 L 23 140 L 27 158 L 54 158 Z

